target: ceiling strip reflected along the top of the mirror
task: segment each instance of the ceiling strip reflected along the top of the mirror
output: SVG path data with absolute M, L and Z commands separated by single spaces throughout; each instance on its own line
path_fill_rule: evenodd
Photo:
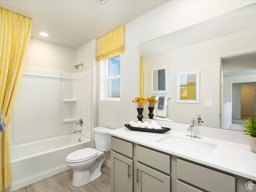
M 256 3 L 206 20 L 140 46 L 141 57 L 256 28 Z

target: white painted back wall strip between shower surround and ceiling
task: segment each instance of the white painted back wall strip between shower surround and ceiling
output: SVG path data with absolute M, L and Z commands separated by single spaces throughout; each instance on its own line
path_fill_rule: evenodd
M 75 50 L 30 38 L 25 67 L 74 73 Z

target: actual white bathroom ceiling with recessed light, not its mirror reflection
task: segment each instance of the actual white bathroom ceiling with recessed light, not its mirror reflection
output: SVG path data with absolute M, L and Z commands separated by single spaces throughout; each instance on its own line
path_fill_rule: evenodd
M 33 19 L 31 37 L 76 49 L 168 0 L 1 0 L 0 7 Z M 43 37 L 38 31 L 50 35 Z

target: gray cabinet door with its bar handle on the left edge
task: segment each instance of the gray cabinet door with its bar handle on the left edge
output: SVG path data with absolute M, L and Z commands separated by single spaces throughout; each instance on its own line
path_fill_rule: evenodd
M 170 191 L 170 176 L 140 163 L 136 164 L 136 171 L 137 192 Z

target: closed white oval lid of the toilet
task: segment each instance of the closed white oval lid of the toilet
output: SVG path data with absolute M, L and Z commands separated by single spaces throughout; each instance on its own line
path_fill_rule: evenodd
M 97 154 L 98 154 L 98 151 L 92 148 L 80 149 L 80 150 L 74 151 L 73 153 L 70 153 L 67 156 L 66 161 L 70 163 L 87 161 L 89 159 L 92 159 L 93 157 L 96 157 Z

